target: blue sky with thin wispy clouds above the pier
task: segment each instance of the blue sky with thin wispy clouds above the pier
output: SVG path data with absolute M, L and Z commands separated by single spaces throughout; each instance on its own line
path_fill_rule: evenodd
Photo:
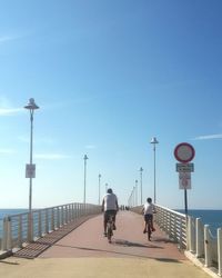
M 0 0 L 0 208 L 28 208 L 34 98 L 33 207 L 98 203 L 105 183 L 128 203 L 184 207 L 173 156 L 195 149 L 189 208 L 222 209 L 221 0 Z M 140 196 L 140 190 L 139 190 Z M 139 199 L 140 201 L 140 199 Z

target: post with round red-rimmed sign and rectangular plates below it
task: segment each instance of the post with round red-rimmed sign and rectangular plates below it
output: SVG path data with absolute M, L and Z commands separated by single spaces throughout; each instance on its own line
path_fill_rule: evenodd
M 184 189 L 184 207 L 188 215 L 188 189 L 191 189 L 191 172 L 194 171 L 193 163 L 189 163 L 195 156 L 193 146 L 188 142 L 179 143 L 174 149 L 175 159 L 181 162 L 176 163 L 179 172 L 179 188 Z

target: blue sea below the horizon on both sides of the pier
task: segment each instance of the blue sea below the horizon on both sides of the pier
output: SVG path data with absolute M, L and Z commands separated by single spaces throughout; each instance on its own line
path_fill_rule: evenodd
M 184 214 L 183 209 L 174 209 L 181 214 Z M 24 214 L 28 209 L 0 209 L 0 238 L 2 237 L 2 224 L 3 218 L 10 215 Z M 222 210 L 214 209 L 190 209 L 188 215 L 194 218 L 201 218 L 202 224 L 210 225 L 210 230 L 213 236 L 216 236 L 216 229 L 222 228 Z

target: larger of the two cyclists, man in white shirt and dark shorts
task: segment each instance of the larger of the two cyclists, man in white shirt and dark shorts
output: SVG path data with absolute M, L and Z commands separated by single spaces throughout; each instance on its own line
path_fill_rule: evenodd
M 114 216 L 113 230 L 117 229 L 117 227 L 115 227 L 115 215 L 117 215 L 118 210 L 119 210 L 118 198 L 112 192 L 112 189 L 109 188 L 108 191 L 107 191 L 107 195 L 102 199 L 102 211 L 104 211 L 104 217 L 103 217 L 104 237 L 107 237 L 107 224 L 108 224 L 108 219 L 109 219 L 110 215 Z

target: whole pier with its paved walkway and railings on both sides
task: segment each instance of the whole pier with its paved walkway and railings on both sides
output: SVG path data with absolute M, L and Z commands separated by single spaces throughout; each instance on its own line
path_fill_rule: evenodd
M 157 231 L 151 241 L 142 232 L 141 207 L 118 212 L 112 244 L 103 237 L 101 208 L 94 205 L 69 203 L 34 211 L 30 242 L 24 232 L 26 217 L 29 219 L 26 214 L 4 219 L 0 276 L 220 277 L 220 261 L 215 268 L 213 252 L 204 254 L 204 242 L 212 249 L 211 240 L 208 238 L 206 244 L 201 238 L 200 224 L 198 240 L 203 242 L 203 248 L 193 237 L 196 219 L 160 206 L 155 208 Z M 206 228 L 203 230 L 208 237 Z

